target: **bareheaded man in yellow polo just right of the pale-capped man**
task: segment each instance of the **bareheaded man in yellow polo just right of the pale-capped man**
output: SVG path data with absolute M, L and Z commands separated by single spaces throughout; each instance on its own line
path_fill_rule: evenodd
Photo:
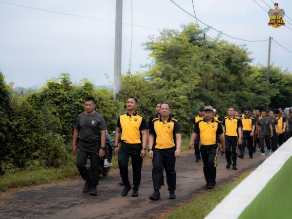
M 229 107 L 228 116 L 223 119 L 223 131 L 225 132 L 225 156 L 226 156 L 226 168 L 229 169 L 231 165 L 232 155 L 232 167 L 237 170 L 237 131 L 238 131 L 238 144 L 241 144 L 241 121 L 234 115 L 234 108 Z

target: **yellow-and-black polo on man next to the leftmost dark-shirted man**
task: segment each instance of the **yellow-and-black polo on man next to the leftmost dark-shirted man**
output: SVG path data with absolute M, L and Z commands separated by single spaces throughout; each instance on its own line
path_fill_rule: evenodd
M 141 131 L 147 130 L 145 118 L 137 112 L 119 116 L 117 128 L 122 131 L 121 141 L 127 144 L 141 144 Z

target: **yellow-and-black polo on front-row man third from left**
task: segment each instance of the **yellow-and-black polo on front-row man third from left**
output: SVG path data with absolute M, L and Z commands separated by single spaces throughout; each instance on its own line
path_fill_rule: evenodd
M 182 134 L 179 122 L 169 116 L 166 123 L 159 118 L 152 120 L 149 134 L 156 136 L 155 148 L 166 149 L 176 146 L 176 134 Z

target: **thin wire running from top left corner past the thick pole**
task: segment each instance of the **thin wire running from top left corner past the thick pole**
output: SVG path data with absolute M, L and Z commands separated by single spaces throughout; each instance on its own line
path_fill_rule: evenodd
M 24 7 L 24 8 L 30 8 L 30 9 L 35 9 L 39 11 L 46 11 L 46 12 L 51 12 L 55 14 L 61 14 L 61 15 L 69 15 L 77 18 L 86 18 L 86 19 L 92 19 L 92 20 L 100 20 L 100 21 L 105 21 L 109 23 L 115 23 L 115 21 L 112 20 L 105 20 L 105 19 L 100 19 L 100 18 L 92 18 L 92 17 L 87 17 L 87 16 L 81 16 L 81 15 L 74 15 L 74 14 L 69 14 L 69 13 L 63 13 L 63 12 L 57 12 L 57 11 L 52 11 L 52 10 L 47 10 L 47 9 L 42 9 L 42 8 L 35 8 L 35 7 L 30 7 L 30 6 L 25 6 L 25 5 L 20 5 L 20 4 L 12 4 L 4 1 L 0 1 L 2 4 L 10 4 L 18 7 Z M 135 27 L 142 27 L 142 28 L 149 28 L 149 29 L 155 29 L 155 30 L 162 30 L 163 28 L 157 28 L 157 27 L 148 27 L 148 26 L 142 26 L 142 25 L 136 25 L 136 24 L 130 24 L 130 23 L 123 23 L 124 25 L 128 26 L 135 26 Z

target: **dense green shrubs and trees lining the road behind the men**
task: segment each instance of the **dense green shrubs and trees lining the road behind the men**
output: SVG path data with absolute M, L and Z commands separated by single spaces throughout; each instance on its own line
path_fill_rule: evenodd
M 109 131 L 124 111 L 128 96 L 138 98 L 138 110 L 148 119 L 159 101 L 169 102 L 183 132 L 189 132 L 198 108 L 207 104 L 219 114 L 229 106 L 268 109 L 292 106 L 292 74 L 251 66 L 243 47 L 220 40 L 204 43 L 203 30 L 190 24 L 183 31 L 164 30 L 144 44 L 152 63 L 144 73 L 122 77 L 117 100 L 107 89 L 95 89 L 87 79 L 73 84 L 68 73 L 48 80 L 38 91 L 12 90 L 0 72 L 0 174 L 18 168 L 59 167 L 72 161 L 71 138 L 83 99 L 93 96 Z

